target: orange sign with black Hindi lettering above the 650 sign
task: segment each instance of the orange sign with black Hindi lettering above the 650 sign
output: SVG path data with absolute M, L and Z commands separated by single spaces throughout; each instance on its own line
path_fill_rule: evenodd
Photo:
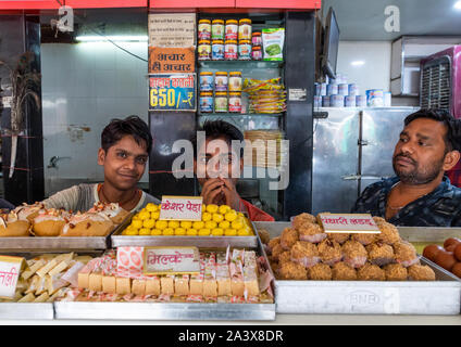
M 194 73 L 196 70 L 195 60 L 194 47 L 149 47 L 149 74 Z

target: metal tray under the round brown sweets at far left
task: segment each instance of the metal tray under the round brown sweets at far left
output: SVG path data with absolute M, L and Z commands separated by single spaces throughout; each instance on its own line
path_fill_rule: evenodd
M 120 226 L 114 228 L 105 236 L 68 236 L 68 237 L 40 237 L 40 236 L 23 236 L 23 237 L 0 237 L 0 252 L 29 252 L 40 249 L 108 249 L 111 248 L 111 235 L 116 232 L 127 219 L 130 220 L 130 215 Z

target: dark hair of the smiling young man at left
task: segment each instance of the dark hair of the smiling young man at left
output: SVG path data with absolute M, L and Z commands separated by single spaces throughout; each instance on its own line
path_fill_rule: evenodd
M 104 130 L 102 130 L 101 147 L 108 152 L 111 146 L 125 136 L 132 136 L 139 145 L 145 143 L 147 153 L 150 153 L 152 149 L 152 136 L 146 121 L 138 116 L 129 116 L 125 119 L 112 119 L 105 126 Z

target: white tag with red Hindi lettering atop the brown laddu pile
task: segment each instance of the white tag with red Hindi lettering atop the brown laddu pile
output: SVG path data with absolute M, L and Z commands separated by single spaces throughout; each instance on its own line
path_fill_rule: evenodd
M 319 218 L 326 233 L 381 233 L 370 214 L 320 214 Z

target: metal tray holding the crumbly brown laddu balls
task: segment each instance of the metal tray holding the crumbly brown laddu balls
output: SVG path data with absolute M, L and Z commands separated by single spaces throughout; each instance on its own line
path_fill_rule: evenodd
M 271 236 L 289 222 L 256 222 Z M 436 273 L 434 282 L 275 281 L 278 313 L 459 314 L 461 281 L 422 258 Z

